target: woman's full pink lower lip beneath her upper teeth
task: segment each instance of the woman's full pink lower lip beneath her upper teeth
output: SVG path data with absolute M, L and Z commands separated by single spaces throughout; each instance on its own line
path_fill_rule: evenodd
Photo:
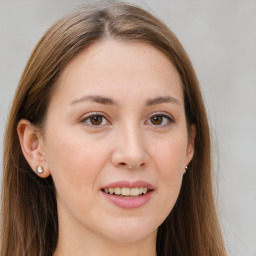
M 101 193 L 103 193 L 106 199 L 111 203 L 113 203 L 114 205 L 121 208 L 133 209 L 133 208 L 139 208 L 145 205 L 151 199 L 153 191 L 149 191 L 145 195 L 131 197 L 131 198 L 114 196 L 111 194 L 107 194 L 103 191 L 101 191 Z

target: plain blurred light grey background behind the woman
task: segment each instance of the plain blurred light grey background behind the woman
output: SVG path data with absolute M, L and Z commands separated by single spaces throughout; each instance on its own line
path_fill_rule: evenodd
M 231 256 L 256 256 L 256 1 L 133 1 L 190 55 L 214 141 L 216 201 Z M 0 0 L 0 153 L 11 100 L 43 32 L 82 1 Z M 2 156 L 0 158 L 2 168 Z

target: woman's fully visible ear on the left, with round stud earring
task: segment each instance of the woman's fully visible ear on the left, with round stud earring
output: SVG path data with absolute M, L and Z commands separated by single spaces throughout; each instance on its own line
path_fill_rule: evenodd
M 50 170 L 45 159 L 44 143 L 40 129 L 28 120 L 22 119 L 18 123 L 17 132 L 22 153 L 31 169 L 36 172 L 37 166 L 41 166 L 44 171 L 41 174 L 36 174 L 41 178 L 48 177 Z

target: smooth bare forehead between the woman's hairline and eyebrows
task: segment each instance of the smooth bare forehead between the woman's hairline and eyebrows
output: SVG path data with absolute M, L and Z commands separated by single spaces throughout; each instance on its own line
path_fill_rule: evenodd
M 183 101 L 182 82 L 168 56 L 144 42 L 104 40 L 68 63 L 53 96 L 70 101 L 82 94 L 123 99 L 168 92 Z

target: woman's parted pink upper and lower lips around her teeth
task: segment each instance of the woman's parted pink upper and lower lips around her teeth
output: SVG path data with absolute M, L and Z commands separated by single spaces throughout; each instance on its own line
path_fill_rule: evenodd
M 136 197 L 120 197 L 120 196 L 116 196 L 116 195 L 111 195 L 111 194 L 107 194 L 104 192 L 104 189 L 108 189 L 108 188 L 137 188 L 137 187 L 144 187 L 147 188 L 149 190 L 149 192 L 147 192 L 145 195 L 139 195 Z M 152 198 L 152 195 L 154 193 L 154 186 L 148 182 L 142 181 L 142 180 L 138 180 L 138 181 L 117 181 L 117 182 L 113 182 L 110 183 L 106 186 L 104 186 L 101 191 L 100 191 L 104 197 L 112 204 L 114 204 L 115 206 L 118 206 L 120 208 L 124 208 L 124 209 L 135 209 L 135 208 L 140 208 L 143 205 L 145 205 L 146 203 L 148 203 L 150 201 L 150 199 Z

